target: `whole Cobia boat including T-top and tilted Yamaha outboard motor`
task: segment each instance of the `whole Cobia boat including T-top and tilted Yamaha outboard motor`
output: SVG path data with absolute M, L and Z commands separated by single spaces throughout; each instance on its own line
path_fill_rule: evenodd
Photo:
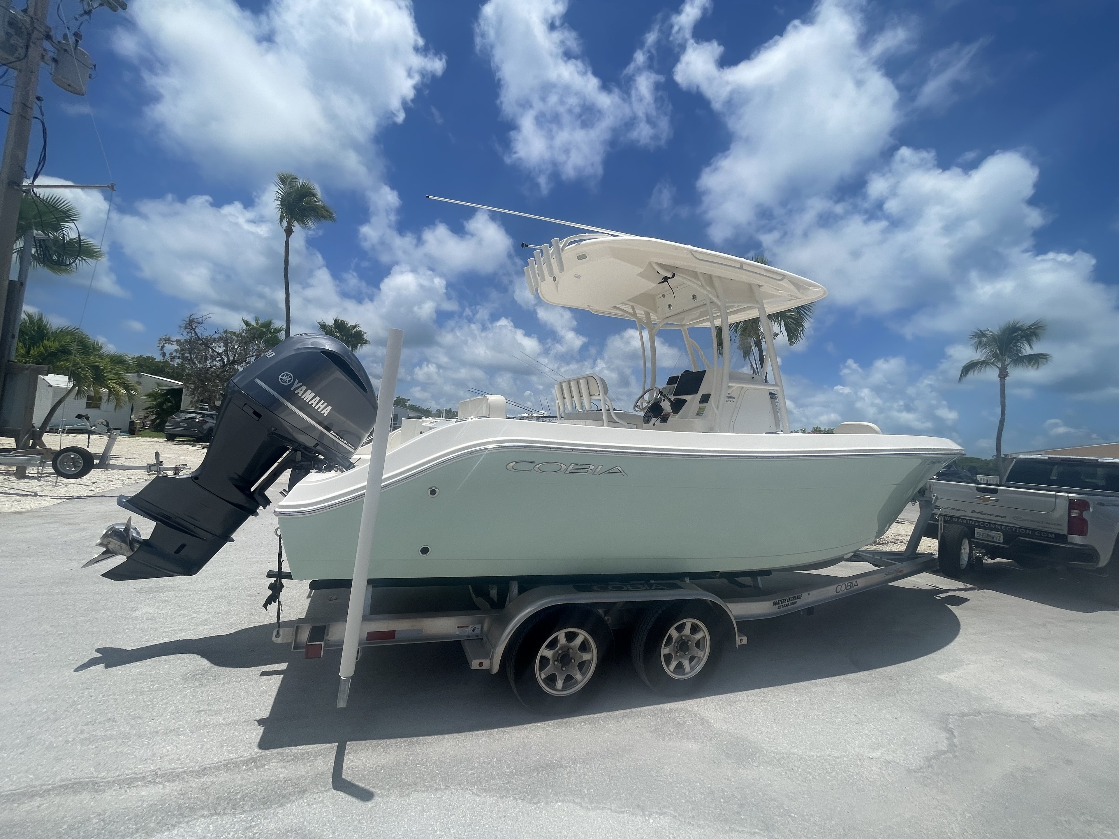
M 641 395 L 615 405 L 609 383 L 586 373 L 556 383 L 547 417 L 510 418 L 504 397 L 483 395 L 460 403 L 454 420 L 403 421 L 389 436 L 370 577 L 734 578 L 824 567 L 874 541 L 962 454 L 950 440 L 867 422 L 833 434 L 790 428 L 768 315 L 827 293 L 791 272 L 595 228 L 536 247 L 525 279 L 545 303 L 631 321 Z M 718 343 L 750 319 L 767 347 L 756 373 L 733 369 Z M 661 380 L 664 330 L 681 334 L 688 368 Z M 117 539 L 131 553 L 105 576 L 197 573 L 294 466 L 298 481 L 274 510 L 291 576 L 348 578 L 375 412 L 367 374 L 339 342 L 281 343 L 231 383 L 197 474 L 122 497 L 159 524 L 139 546 Z

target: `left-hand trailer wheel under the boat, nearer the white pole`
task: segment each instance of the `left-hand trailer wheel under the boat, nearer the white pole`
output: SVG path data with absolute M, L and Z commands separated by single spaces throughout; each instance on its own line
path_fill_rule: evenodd
M 509 644 L 509 685 L 527 708 L 570 713 L 602 688 L 613 647 L 610 626 L 594 610 L 548 610 L 526 622 Z

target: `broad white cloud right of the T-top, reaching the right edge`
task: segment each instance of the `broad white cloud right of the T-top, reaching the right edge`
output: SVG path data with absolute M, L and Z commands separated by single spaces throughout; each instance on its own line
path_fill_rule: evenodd
M 781 264 L 824 280 L 829 300 L 890 317 L 906 336 L 961 336 L 1012 318 L 1043 318 L 1053 361 L 1012 376 L 1085 398 L 1119 395 L 1119 290 L 1087 253 L 1037 253 L 1044 214 L 1029 200 L 1037 168 L 997 152 L 971 170 L 941 169 L 930 151 L 900 149 L 843 201 L 818 199 L 762 234 Z M 955 379 L 970 350 L 946 350 Z M 1027 384 L 1028 383 L 1028 384 Z

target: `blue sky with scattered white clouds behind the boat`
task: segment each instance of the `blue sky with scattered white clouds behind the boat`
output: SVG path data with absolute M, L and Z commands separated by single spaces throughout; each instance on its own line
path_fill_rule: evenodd
M 1044 318 L 1054 360 L 1012 377 L 1005 449 L 1116 440 L 1117 27 L 1103 0 L 135 0 L 84 26 L 86 100 L 40 85 L 47 176 L 117 185 L 107 227 L 106 197 L 78 198 L 109 260 L 87 304 L 90 272 L 35 276 L 28 303 L 134 353 L 191 312 L 282 320 L 286 169 L 338 213 L 293 239 L 295 327 L 360 322 L 375 377 L 402 327 L 421 404 L 546 399 L 521 353 L 618 402 L 640 380 L 623 322 L 527 294 L 520 242 L 565 229 L 430 192 L 824 284 L 783 352 L 794 426 L 989 454 L 997 385 L 957 384 L 967 334 Z

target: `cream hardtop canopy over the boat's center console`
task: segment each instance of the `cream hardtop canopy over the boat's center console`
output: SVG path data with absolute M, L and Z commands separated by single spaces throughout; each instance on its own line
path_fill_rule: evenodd
M 525 276 L 545 302 L 660 327 L 706 327 L 720 309 L 735 323 L 758 317 L 759 296 L 772 314 L 827 294 L 811 280 L 740 256 L 605 234 L 552 239 Z

